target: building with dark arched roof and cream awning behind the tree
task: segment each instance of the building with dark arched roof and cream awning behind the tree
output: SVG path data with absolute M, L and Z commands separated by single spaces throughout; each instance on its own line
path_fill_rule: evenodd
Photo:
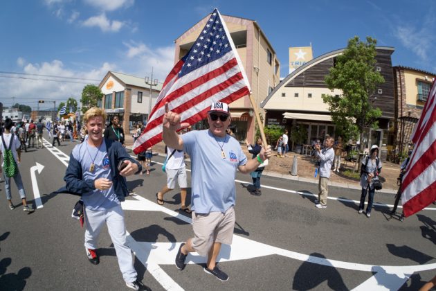
M 345 48 L 342 48 L 320 55 L 284 78 L 260 104 L 266 111 L 265 125 L 278 125 L 289 132 L 296 126 L 305 127 L 307 137 L 303 141 L 304 144 L 310 144 L 316 139 L 323 141 L 326 134 L 336 137 L 336 128 L 331 123 L 330 112 L 327 104 L 323 102 L 323 95 L 340 95 L 342 91 L 331 91 L 324 80 L 329 69 L 334 67 L 336 57 L 344 50 Z M 376 70 L 381 73 L 385 82 L 377 87 L 370 100 L 383 113 L 379 118 L 379 129 L 367 129 L 363 139 L 367 147 L 372 144 L 380 147 L 388 144 L 391 123 L 395 118 L 391 60 L 394 48 L 377 46 L 376 51 Z M 293 146 L 291 139 L 290 145 Z

